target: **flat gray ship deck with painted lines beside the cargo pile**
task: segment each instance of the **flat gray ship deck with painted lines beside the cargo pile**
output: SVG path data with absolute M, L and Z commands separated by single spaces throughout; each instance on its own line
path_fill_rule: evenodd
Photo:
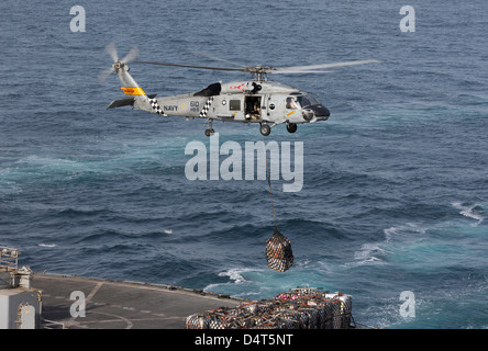
M 192 314 L 244 302 L 171 285 L 49 273 L 35 273 L 32 288 L 42 291 L 42 328 L 184 329 Z M 85 317 L 73 317 L 82 299 Z

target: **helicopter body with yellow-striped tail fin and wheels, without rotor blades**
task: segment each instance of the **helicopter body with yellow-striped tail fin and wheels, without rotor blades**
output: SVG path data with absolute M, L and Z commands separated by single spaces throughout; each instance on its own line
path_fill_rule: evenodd
M 122 91 L 131 98 L 114 100 L 108 109 L 132 105 L 163 116 L 206 118 L 206 135 L 213 134 L 213 121 L 259 123 L 263 135 L 286 123 L 295 133 L 297 124 L 326 121 L 329 110 L 309 93 L 278 82 L 255 79 L 217 82 L 195 93 L 156 98 L 148 94 L 129 73 L 126 64 L 117 61 L 113 69 L 122 82 Z

